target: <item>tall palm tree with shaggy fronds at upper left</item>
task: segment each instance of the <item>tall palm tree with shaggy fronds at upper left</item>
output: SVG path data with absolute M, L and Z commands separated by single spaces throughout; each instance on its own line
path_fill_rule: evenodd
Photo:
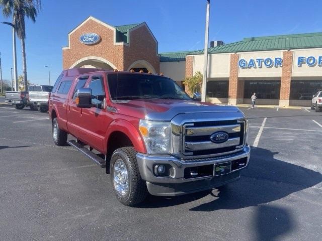
M 27 80 L 27 63 L 26 63 L 26 26 L 25 17 L 36 22 L 36 16 L 40 10 L 41 0 L 0 0 L 0 8 L 2 8 L 5 17 L 13 18 L 12 23 L 18 38 L 21 40 L 22 65 L 24 75 L 25 91 L 28 88 Z

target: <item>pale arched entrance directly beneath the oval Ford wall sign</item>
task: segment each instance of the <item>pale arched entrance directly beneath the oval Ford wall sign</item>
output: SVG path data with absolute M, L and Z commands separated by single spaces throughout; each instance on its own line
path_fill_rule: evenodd
M 116 66 L 104 58 L 97 56 L 88 56 L 77 60 L 70 66 L 70 68 L 98 68 L 113 70 L 116 69 Z

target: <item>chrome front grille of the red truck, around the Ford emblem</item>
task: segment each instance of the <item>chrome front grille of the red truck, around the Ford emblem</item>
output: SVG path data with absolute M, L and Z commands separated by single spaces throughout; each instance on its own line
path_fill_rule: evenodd
M 223 143 L 214 143 L 216 132 L 228 134 Z M 245 121 L 213 121 L 186 123 L 183 126 L 182 153 L 184 156 L 218 156 L 233 153 L 245 145 Z

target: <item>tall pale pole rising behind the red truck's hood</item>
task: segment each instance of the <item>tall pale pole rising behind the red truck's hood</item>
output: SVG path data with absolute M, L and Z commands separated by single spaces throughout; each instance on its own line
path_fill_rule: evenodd
M 210 0 L 207 0 L 205 52 L 204 52 L 204 61 L 203 61 L 203 76 L 202 76 L 202 89 L 201 89 L 201 101 L 203 101 L 203 102 L 206 101 L 207 68 L 208 68 L 208 41 L 209 41 L 209 12 L 210 12 Z

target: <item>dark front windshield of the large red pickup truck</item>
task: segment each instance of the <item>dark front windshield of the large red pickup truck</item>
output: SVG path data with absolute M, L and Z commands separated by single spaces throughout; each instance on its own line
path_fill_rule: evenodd
M 108 84 L 113 100 L 156 98 L 191 100 L 188 94 L 175 81 L 162 76 L 147 74 L 109 74 Z

